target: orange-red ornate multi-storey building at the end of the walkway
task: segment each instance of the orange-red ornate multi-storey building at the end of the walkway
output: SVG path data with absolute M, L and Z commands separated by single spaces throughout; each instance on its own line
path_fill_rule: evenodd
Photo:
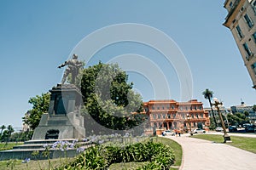
M 188 131 L 197 127 L 208 129 L 210 126 L 208 112 L 196 99 L 188 102 L 149 100 L 143 103 L 143 109 L 148 115 L 148 127 L 154 129 Z

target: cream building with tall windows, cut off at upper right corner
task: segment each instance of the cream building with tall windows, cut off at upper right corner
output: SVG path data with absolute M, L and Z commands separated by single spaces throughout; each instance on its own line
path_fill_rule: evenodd
M 256 0 L 226 0 L 224 8 L 228 10 L 224 26 L 232 32 L 256 88 Z

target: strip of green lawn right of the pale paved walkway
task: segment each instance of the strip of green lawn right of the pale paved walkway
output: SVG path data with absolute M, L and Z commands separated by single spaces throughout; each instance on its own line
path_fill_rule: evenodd
M 224 142 L 223 136 L 218 134 L 199 134 L 199 135 L 191 136 L 191 138 L 206 139 L 216 143 Z M 247 138 L 247 137 L 238 137 L 238 136 L 231 136 L 230 138 L 232 140 L 232 143 L 226 143 L 226 144 L 230 144 L 242 150 L 251 151 L 256 154 L 256 138 Z

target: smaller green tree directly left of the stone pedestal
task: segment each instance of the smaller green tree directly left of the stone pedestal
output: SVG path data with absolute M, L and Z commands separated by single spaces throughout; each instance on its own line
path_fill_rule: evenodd
M 28 100 L 28 103 L 32 105 L 32 110 L 28 111 L 27 116 L 22 117 L 23 122 L 29 125 L 29 127 L 35 129 L 38 127 L 41 116 L 48 111 L 49 108 L 49 93 L 37 95 Z

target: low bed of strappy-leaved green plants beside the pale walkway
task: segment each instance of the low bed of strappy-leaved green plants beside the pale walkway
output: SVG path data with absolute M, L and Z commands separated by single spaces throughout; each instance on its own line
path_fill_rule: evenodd
M 148 141 L 126 146 L 97 145 L 85 150 L 76 160 L 62 169 L 106 169 L 113 163 L 146 162 L 138 169 L 169 169 L 175 161 L 170 146 Z

